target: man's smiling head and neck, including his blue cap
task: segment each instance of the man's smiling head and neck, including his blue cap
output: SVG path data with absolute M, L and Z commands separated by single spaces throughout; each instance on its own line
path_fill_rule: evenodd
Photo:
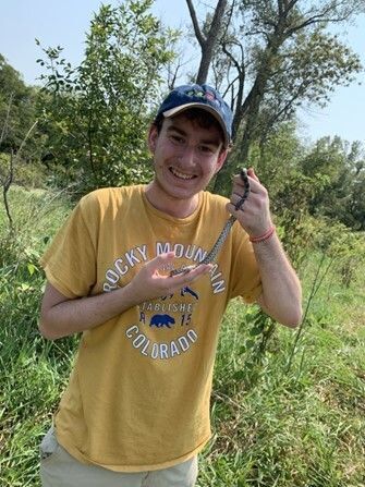
M 156 208 L 179 218 L 194 211 L 198 194 L 224 163 L 231 124 L 231 110 L 214 88 L 170 93 L 148 132 L 155 176 L 146 195 Z

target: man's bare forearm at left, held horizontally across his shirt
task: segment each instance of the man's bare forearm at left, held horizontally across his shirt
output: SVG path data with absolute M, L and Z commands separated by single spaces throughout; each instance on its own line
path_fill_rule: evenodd
M 102 325 L 136 304 L 129 285 L 95 296 L 61 301 L 51 307 L 42 306 L 39 330 L 44 337 L 56 340 Z

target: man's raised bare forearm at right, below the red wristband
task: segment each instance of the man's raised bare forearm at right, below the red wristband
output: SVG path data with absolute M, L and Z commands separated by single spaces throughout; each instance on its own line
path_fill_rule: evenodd
M 302 319 L 302 289 L 276 233 L 253 244 L 263 284 L 258 304 L 273 319 L 295 327 Z

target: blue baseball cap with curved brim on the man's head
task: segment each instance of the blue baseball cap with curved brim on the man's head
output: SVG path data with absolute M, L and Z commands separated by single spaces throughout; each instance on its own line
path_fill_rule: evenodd
M 157 117 L 174 117 L 190 108 L 200 108 L 208 111 L 219 122 L 224 134 L 224 147 L 232 137 L 233 113 L 220 94 L 208 85 L 183 85 L 174 88 L 162 101 Z

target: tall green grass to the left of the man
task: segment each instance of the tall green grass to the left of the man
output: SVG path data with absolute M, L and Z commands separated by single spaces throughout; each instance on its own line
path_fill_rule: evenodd
M 25 487 L 39 485 L 39 440 L 72 358 L 71 346 L 47 343 L 37 331 L 44 290 L 38 257 L 70 205 L 14 187 L 10 207 L 13 231 L 0 211 L 0 485 Z

